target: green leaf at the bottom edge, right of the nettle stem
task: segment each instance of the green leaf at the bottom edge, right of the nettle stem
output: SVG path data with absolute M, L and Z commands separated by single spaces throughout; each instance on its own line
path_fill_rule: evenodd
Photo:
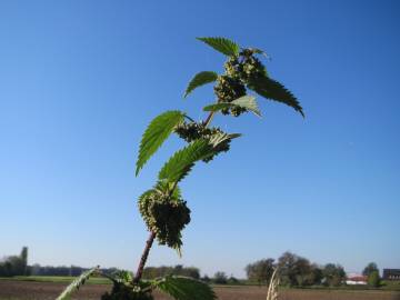
M 176 300 L 214 300 L 210 286 L 188 277 L 167 276 L 153 281 L 153 287 Z

